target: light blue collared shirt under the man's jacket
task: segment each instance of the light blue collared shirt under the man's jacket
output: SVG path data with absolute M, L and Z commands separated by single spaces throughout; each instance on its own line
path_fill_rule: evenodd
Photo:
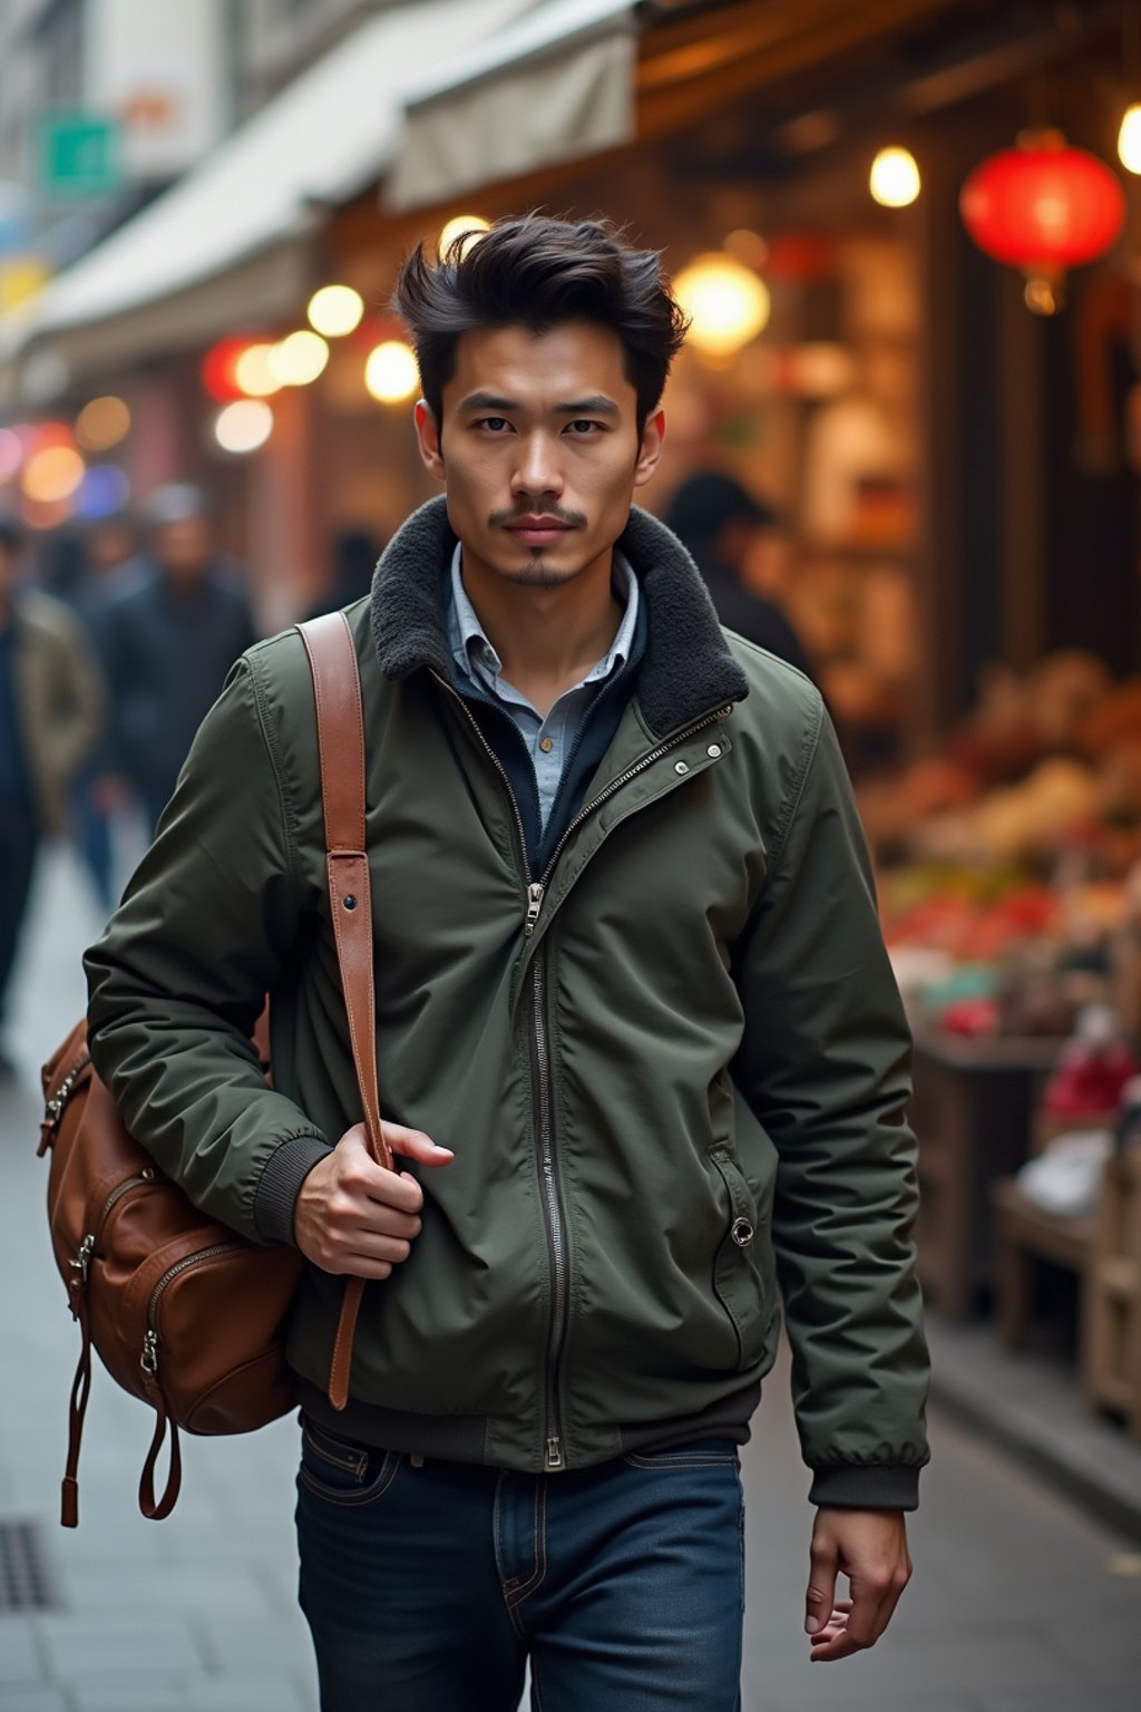
M 638 579 L 621 553 L 614 553 L 614 592 L 626 601 L 623 621 L 618 635 L 611 642 L 609 654 L 600 659 L 585 678 L 573 688 L 563 690 L 558 702 L 544 719 L 537 707 L 522 695 L 515 685 L 503 676 L 503 661 L 488 640 L 479 615 L 467 597 L 462 575 L 464 550 L 457 544 L 452 555 L 452 604 L 448 611 L 448 645 L 452 657 L 474 688 L 491 695 L 523 734 L 523 741 L 535 767 L 539 786 L 539 817 L 546 830 L 554 798 L 558 794 L 563 767 L 575 746 L 578 728 L 587 709 L 594 702 L 600 687 L 616 671 L 621 671 L 630 659 L 638 623 Z

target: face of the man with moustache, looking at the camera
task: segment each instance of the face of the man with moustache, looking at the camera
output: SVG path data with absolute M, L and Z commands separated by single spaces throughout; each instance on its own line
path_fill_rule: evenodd
M 446 486 L 464 563 L 556 587 L 609 553 L 662 450 L 662 413 L 640 438 L 636 411 L 623 346 L 606 327 L 462 334 L 443 423 L 421 401 L 416 428 Z

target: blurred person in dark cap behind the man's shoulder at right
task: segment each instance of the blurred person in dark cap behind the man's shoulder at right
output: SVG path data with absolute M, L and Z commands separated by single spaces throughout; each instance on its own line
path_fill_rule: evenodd
M 807 654 L 783 609 L 744 580 L 751 555 L 777 544 L 778 514 L 754 500 L 734 476 L 706 469 L 676 488 L 665 524 L 693 553 L 720 621 L 811 678 Z

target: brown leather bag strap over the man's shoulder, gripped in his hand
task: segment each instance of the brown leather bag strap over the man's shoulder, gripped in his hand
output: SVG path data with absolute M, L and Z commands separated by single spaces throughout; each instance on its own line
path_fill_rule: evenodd
M 352 1063 L 361 1092 L 368 1147 L 378 1166 L 393 1169 L 392 1150 L 380 1126 L 376 1080 L 376 996 L 373 988 L 373 906 L 364 834 L 364 714 L 361 675 L 352 632 L 344 613 L 325 613 L 298 625 L 313 671 L 316 746 L 325 813 L 325 868 L 334 918 L 340 986 L 349 1015 Z M 328 1400 L 344 1409 L 349 1400 L 352 1337 L 361 1308 L 363 1279 L 347 1279 L 328 1375 Z

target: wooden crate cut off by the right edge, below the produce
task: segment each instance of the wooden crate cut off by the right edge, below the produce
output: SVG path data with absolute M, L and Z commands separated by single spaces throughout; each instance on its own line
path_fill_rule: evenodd
M 1083 1382 L 1095 1407 L 1141 1438 L 1141 1150 L 1105 1166 L 1081 1327 Z

